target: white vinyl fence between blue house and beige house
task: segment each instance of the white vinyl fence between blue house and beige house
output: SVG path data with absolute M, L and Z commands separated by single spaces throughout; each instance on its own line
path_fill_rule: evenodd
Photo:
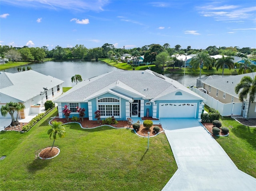
M 204 104 L 209 106 L 210 108 L 214 108 L 220 112 L 221 116 L 230 116 L 230 115 L 241 115 L 242 111 L 242 103 L 222 103 L 213 97 L 209 96 L 206 93 L 203 93 L 202 91 L 198 90 L 195 87 L 192 87 L 191 90 L 195 92 L 196 94 L 200 95 L 206 101 L 204 101 Z

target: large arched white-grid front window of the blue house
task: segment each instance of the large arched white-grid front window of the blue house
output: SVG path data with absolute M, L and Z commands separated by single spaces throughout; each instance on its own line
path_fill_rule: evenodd
M 98 108 L 101 116 L 120 116 L 120 105 L 117 98 L 98 99 Z

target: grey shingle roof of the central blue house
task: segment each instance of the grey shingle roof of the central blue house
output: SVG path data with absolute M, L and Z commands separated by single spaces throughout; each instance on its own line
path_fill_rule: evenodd
M 203 100 L 202 97 L 190 91 L 177 81 L 151 70 L 121 70 L 112 71 L 82 81 L 57 98 L 55 102 L 86 102 L 88 99 L 113 91 L 114 89 L 122 89 L 123 92 L 130 92 L 130 94 L 144 99 L 159 98 L 169 93 L 182 90 L 183 92 L 193 95 L 195 99 Z

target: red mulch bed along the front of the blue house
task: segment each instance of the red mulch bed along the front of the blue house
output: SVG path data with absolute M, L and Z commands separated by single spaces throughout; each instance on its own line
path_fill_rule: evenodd
M 66 118 L 62 118 L 62 119 L 55 118 L 54 120 L 61 121 L 62 123 L 72 122 L 71 119 L 69 119 L 69 121 L 67 121 Z M 101 122 L 100 122 L 100 124 L 98 124 L 97 121 L 89 120 L 88 118 L 84 118 L 84 121 L 78 121 L 78 123 L 80 123 L 83 128 L 92 128 L 92 127 L 97 127 L 97 126 L 102 125 Z M 116 125 L 112 124 L 110 126 L 117 127 L 117 128 L 121 128 L 121 127 L 126 127 L 127 128 L 127 127 L 129 127 L 127 121 L 118 121 L 118 124 L 116 124 Z M 154 136 L 154 135 L 156 135 L 156 133 L 153 132 L 154 126 L 158 126 L 160 128 L 160 131 L 163 131 L 162 126 L 159 125 L 159 124 L 154 124 L 154 121 L 153 121 L 153 126 L 150 127 L 149 130 L 146 130 L 146 128 L 144 128 L 144 126 L 142 124 L 142 125 L 140 125 L 140 129 L 137 131 L 137 133 L 141 136 L 148 136 L 148 132 L 150 132 L 150 136 Z M 131 128 L 132 128 L 132 125 L 131 125 Z

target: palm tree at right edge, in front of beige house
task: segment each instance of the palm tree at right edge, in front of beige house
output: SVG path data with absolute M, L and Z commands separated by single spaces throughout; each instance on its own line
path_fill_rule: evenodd
M 240 91 L 241 90 L 241 91 Z M 250 103 L 254 102 L 256 98 L 256 77 L 252 79 L 249 76 L 242 77 L 240 83 L 235 87 L 236 94 L 239 93 L 238 98 L 241 102 L 244 102 L 249 95 L 249 106 L 246 119 L 249 118 Z

